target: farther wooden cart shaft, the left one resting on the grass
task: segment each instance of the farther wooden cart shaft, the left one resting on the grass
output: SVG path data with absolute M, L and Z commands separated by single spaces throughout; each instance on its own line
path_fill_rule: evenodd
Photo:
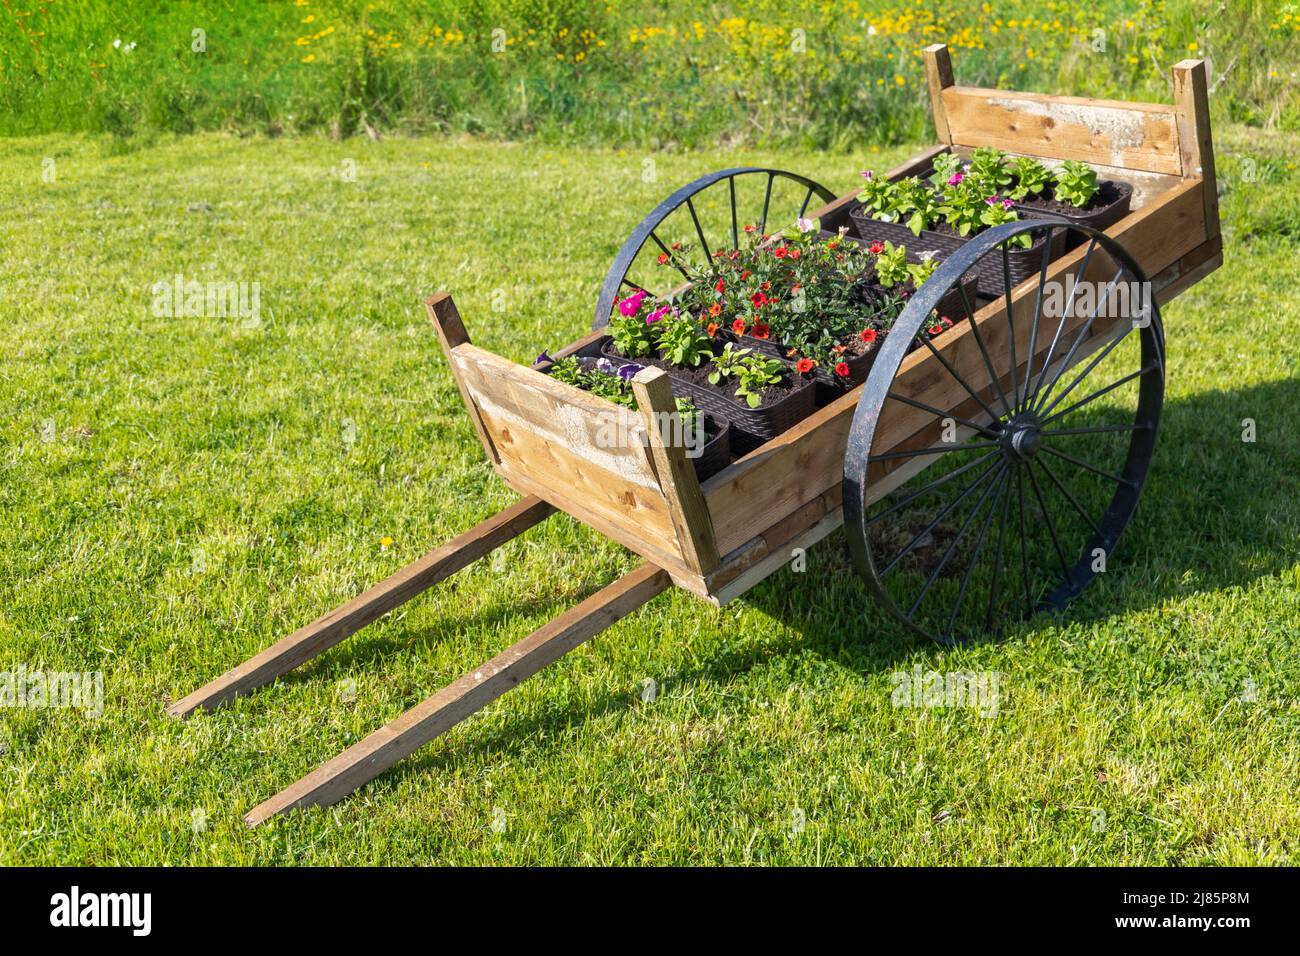
M 255 687 L 270 683 L 552 514 L 555 509 L 536 497 L 515 502 L 464 535 L 458 535 L 447 544 L 434 548 L 360 597 L 298 628 L 256 657 L 204 684 L 168 708 L 168 713 L 172 717 L 188 717 L 199 708 L 211 710 Z

